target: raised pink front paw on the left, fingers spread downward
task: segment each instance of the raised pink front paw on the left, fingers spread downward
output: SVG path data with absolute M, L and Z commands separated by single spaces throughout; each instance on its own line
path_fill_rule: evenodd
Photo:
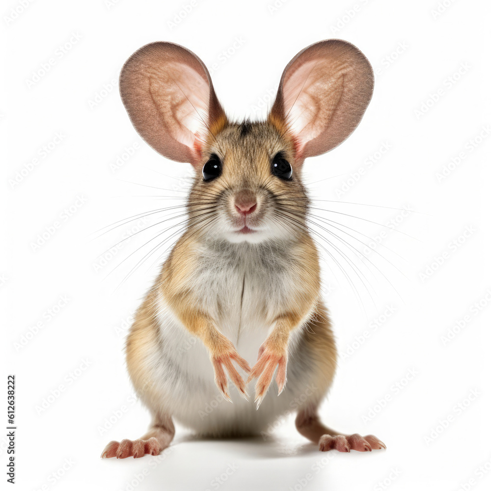
M 234 382 L 236 387 L 239 389 L 241 396 L 248 400 L 249 395 L 246 391 L 246 384 L 233 365 L 232 361 L 235 361 L 247 373 L 250 372 L 250 366 L 247 361 L 237 353 L 234 345 L 228 339 L 226 341 L 223 340 L 220 350 L 211 355 L 211 361 L 213 369 L 215 370 L 215 383 L 217 384 L 220 392 L 223 394 L 223 397 L 225 397 L 227 401 L 232 402 L 232 399 L 230 399 L 230 395 L 228 393 L 227 376 L 223 370 L 223 367 L 225 367 L 229 377 L 232 379 L 232 382 Z

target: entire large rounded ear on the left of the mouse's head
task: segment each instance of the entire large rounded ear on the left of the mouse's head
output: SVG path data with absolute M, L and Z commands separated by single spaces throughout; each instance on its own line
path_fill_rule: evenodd
M 119 91 L 140 136 L 178 162 L 197 164 L 208 133 L 227 121 L 206 66 L 178 44 L 136 51 L 121 70 Z

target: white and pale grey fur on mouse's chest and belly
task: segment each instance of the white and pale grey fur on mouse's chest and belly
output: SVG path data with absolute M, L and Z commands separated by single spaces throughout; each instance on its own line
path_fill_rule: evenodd
M 207 250 L 206 254 L 210 260 L 210 251 Z M 278 303 L 288 301 L 289 285 L 293 279 L 288 277 L 287 268 L 271 264 L 271 261 L 263 261 L 262 264 L 247 262 L 237 254 L 227 258 L 223 251 L 215 259 L 217 264 L 212 271 L 208 264 L 202 271 L 195 272 L 194 286 L 203 292 L 201 301 L 207 311 L 215 314 L 217 327 L 253 366 L 259 347 L 272 327 L 270 313 L 277 311 Z M 283 260 L 288 261 L 288 258 Z M 218 301 L 226 308 L 222 306 L 219 310 Z M 147 369 L 153 372 L 155 388 L 162 393 L 166 410 L 198 434 L 259 433 L 279 416 L 299 409 L 305 403 L 306 395 L 315 391 L 311 385 L 311 357 L 307 353 L 302 327 L 291 336 L 285 390 L 278 396 L 278 388 L 273 381 L 256 410 L 255 381 L 247 387 L 249 401 L 240 396 L 232 382 L 229 382 L 229 392 L 233 404 L 224 400 L 215 384 L 213 367 L 201 341 L 181 325 L 163 297 L 156 307 L 162 342 L 148 354 Z

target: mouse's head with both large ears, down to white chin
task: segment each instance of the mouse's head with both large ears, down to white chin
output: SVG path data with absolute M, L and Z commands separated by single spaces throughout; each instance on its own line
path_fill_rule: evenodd
M 373 92 L 373 70 L 350 43 L 331 39 L 286 66 L 266 121 L 229 121 L 210 74 L 188 49 L 148 44 L 125 63 L 123 104 L 157 152 L 188 162 L 196 233 L 259 243 L 305 231 L 307 157 L 323 154 L 356 128 Z

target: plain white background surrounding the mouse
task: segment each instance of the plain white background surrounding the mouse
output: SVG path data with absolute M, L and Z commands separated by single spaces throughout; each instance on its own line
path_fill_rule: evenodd
M 17 489 L 489 489 L 489 2 L 196 0 L 185 15 L 188 0 L 21 4 L 2 5 L 0 106 L 1 360 L 5 391 L 16 374 Z M 316 214 L 382 243 L 368 249 L 371 263 L 352 237 L 343 236 L 351 247 L 337 243 L 345 256 L 321 243 L 344 354 L 321 415 L 376 434 L 387 450 L 321 454 L 287 418 L 268 441 L 196 441 L 177 427 L 164 456 L 101 460 L 109 440 L 141 436 L 149 423 L 126 375 L 124 335 L 176 238 L 167 225 L 183 218 L 97 231 L 182 203 L 179 179 L 191 175 L 137 136 L 115 84 L 122 64 L 148 42 L 177 42 L 215 64 L 231 116 L 257 118 L 288 61 L 331 37 L 378 69 L 375 92 L 355 133 L 305 163 L 305 180 L 312 197 L 341 201 L 314 202 L 325 209 Z M 160 232 L 168 242 L 123 281 Z

